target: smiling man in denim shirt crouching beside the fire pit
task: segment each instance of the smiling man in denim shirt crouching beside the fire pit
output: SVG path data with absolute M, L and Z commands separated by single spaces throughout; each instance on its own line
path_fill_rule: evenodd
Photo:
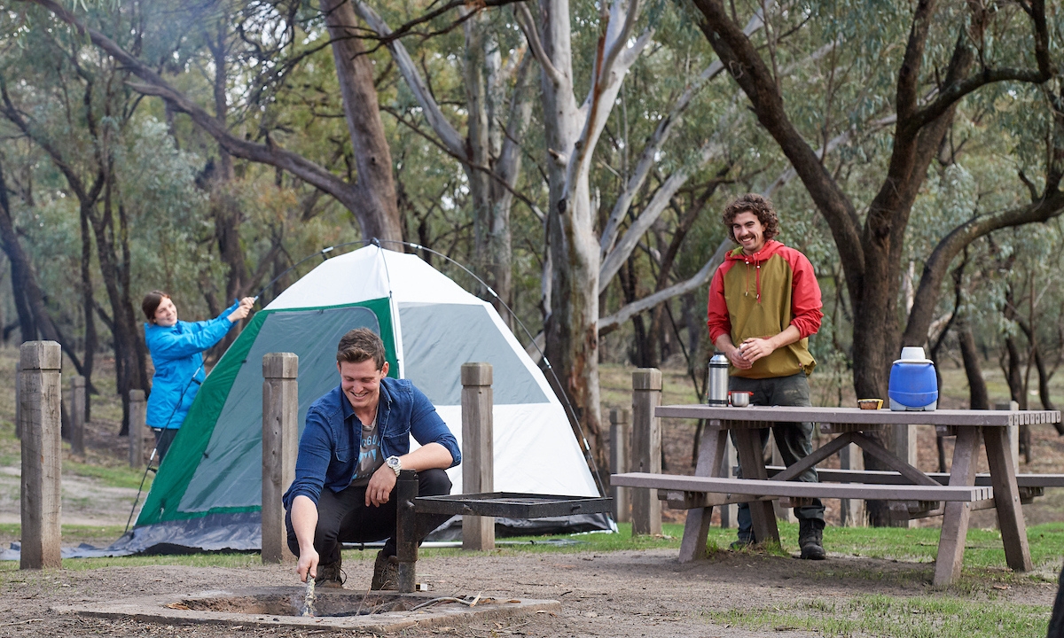
M 340 544 L 387 539 L 373 564 L 371 589 L 396 589 L 396 503 L 399 470 L 415 470 L 418 496 L 449 494 L 444 471 L 459 465 L 458 441 L 436 408 L 410 381 L 388 379 L 384 343 L 372 331 L 339 340 L 340 384 L 306 410 L 296 480 L 284 494 L 288 549 L 300 581 L 343 587 Z M 420 448 L 410 451 L 413 436 Z M 326 489 L 322 489 L 326 488 Z M 418 517 L 425 539 L 449 517 Z

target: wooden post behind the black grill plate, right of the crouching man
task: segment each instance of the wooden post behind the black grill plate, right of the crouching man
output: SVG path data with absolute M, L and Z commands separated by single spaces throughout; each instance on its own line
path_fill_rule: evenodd
M 462 364 L 462 491 L 494 491 L 492 364 Z M 494 550 L 495 517 L 463 516 L 462 549 Z

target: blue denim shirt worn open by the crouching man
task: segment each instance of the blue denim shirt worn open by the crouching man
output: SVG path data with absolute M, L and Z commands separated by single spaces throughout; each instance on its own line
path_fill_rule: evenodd
M 439 443 L 451 453 L 451 467 L 462 463 L 458 440 L 435 406 L 410 381 L 385 377 L 377 406 L 381 432 L 381 456 L 402 456 L 410 452 L 410 437 L 420 443 Z M 340 386 L 315 401 L 306 410 L 306 424 L 299 439 L 296 480 L 284 492 L 284 507 L 299 494 L 317 505 L 321 488 L 338 492 L 351 484 L 359 465 L 362 421 Z

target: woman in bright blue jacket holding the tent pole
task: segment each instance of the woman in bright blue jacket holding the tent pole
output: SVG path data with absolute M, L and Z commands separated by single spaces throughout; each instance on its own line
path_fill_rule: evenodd
M 170 296 L 152 290 L 140 307 L 148 322 L 144 324 L 144 340 L 151 353 L 155 374 L 151 379 L 148 398 L 148 426 L 155 431 L 155 451 L 163 463 L 178 429 L 206 377 L 202 352 L 226 336 L 236 323 L 248 316 L 255 300 L 245 297 L 209 321 L 178 321 L 178 307 Z

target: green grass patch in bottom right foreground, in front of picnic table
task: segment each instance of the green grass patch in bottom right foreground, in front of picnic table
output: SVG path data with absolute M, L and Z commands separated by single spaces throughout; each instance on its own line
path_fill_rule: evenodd
M 1042 637 L 1044 605 L 966 601 L 952 597 L 859 595 L 845 601 L 799 601 L 760 609 L 708 611 L 716 624 L 748 629 L 817 632 L 825 636 L 897 638 Z

